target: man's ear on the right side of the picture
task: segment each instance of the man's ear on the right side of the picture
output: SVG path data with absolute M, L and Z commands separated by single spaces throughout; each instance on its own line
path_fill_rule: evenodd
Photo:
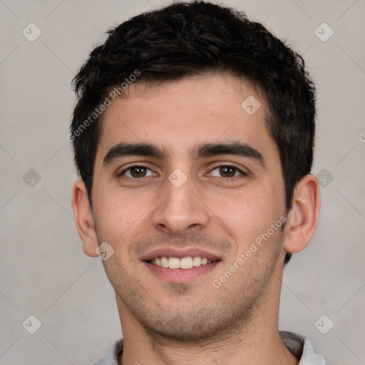
M 285 227 L 285 251 L 294 253 L 307 247 L 317 229 L 320 206 L 318 179 L 314 175 L 306 175 L 294 188 L 292 208 Z

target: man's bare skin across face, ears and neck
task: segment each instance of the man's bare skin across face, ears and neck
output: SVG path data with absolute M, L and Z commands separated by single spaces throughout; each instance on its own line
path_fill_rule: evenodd
M 298 364 L 279 338 L 277 317 L 286 252 L 303 250 L 319 216 L 319 184 L 305 176 L 286 213 L 277 145 L 267 130 L 264 100 L 247 80 L 210 74 L 160 86 L 135 83 L 103 118 L 93 177 L 93 207 L 85 184 L 73 187 L 72 205 L 83 250 L 96 257 L 101 242 L 114 253 L 103 261 L 115 289 L 124 351 L 119 364 Z M 249 115 L 242 101 L 255 96 Z M 103 159 L 118 143 L 153 143 L 163 158 Z M 204 143 L 247 143 L 255 158 L 212 155 L 193 158 Z M 149 170 L 133 178 L 138 163 Z M 239 170 L 220 170 L 236 165 Z M 168 177 L 180 169 L 180 187 Z M 119 175 L 125 171 L 124 175 Z M 143 174 L 142 174 L 143 175 Z M 139 176 L 139 175 L 138 175 Z M 276 230 L 232 276 L 230 269 L 279 217 Z M 155 276 L 141 257 L 157 248 L 197 247 L 220 257 L 209 272 L 173 283 Z

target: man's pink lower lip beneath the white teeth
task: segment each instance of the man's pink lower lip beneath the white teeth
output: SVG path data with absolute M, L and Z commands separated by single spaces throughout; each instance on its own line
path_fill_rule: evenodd
M 182 283 L 191 282 L 192 280 L 211 272 L 218 264 L 220 264 L 220 261 L 198 267 L 192 267 L 191 269 L 168 269 L 167 267 L 157 266 L 145 261 L 143 264 L 145 264 L 145 266 L 159 279 L 163 279 L 171 283 Z

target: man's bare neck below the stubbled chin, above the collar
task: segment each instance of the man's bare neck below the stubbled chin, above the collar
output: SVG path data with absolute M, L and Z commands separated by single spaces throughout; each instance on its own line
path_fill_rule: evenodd
M 297 365 L 298 360 L 279 338 L 277 329 L 264 333 L 240 331 L 213 341 L 181 343 L 159 336 L 124 336 L 120 365 Z

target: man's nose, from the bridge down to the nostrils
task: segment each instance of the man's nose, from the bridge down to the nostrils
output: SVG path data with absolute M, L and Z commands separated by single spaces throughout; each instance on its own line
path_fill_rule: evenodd
M 204 203 L 203 195 L 193 185 L 192 178 L 187 178 L 183 185 L 174 185 L 173 180 L 165 181 L 165 194 L 156 203 L 152 215 L 156 229 L 184 235 L 207 226 L 210 210 Z

